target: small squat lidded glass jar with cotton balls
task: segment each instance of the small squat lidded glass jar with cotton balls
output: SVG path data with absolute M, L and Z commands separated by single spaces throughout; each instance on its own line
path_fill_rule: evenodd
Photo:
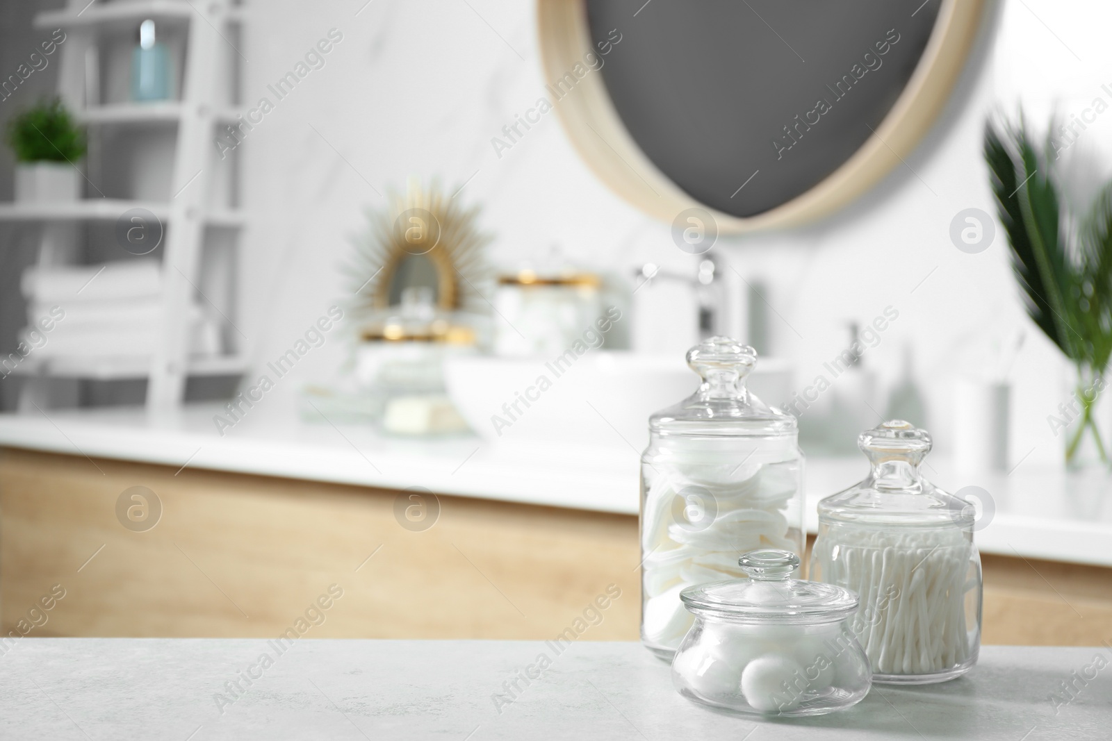
M 684 697 L 757 715 L 822 715 L 861 702 L 868 659 L 850 624 L 857 595 L 792 579 L 800 557 L 757 550 L 738 559 L 748 579 L 688 587 L 694 623 L 672 662 Z

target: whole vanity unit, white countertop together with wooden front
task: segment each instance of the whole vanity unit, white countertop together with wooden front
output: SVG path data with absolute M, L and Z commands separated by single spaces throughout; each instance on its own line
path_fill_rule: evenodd
M 221 437 L 219 411 L 0 417 L 6 628 L 71 574 L 64 609 L 32 634 L 269 637 L 337 582 L 357 607 L 321 637 L 548 639 L 608 584 L 623 597 L 592 639 L 637 637 L 639 451 L 616 434 L 590 447 L 388 439 L 297 421 L 276 400 Z M 862 465 L 807 461 L 808 530 L 817 500 Z M 979 481 L 932 465 L 940 485 L 993 497 L 976 532 L 985 643 L 1105 637 L 1112 505 L 1100 487 L 1026 463 Z M 132 487 L 159 502 L 145 531 L 118 517 Z

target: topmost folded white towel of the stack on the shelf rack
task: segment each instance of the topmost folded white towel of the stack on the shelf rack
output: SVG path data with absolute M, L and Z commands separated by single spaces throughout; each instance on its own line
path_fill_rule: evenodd
M 157 297 L 162 291 L 157 260 L 122 260 L 100 266 L 32 266 L 23 272 L 20 289 L 37 303 L 66 306 L 97 299 L 127 300 Z

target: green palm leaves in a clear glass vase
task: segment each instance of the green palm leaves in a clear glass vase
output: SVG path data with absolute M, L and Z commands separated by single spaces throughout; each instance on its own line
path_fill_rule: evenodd
M 1070 398 L 1048 421 L 1065 433 L 1066 465 L 1078 469 L 1110 458 L 1095 409 L 1112 356 L 1112 182 L 1063 198 L 1058 130 L 1052 121 L 1039 144 L 1022 114 L 1000 126 L 990 120 L 984 157 L 1027 313 L 1074 367 Z

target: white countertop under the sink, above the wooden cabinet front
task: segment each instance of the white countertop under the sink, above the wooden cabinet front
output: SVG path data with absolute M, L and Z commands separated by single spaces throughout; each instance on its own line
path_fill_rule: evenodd
M 291 408 L 260 410 L 221 437 L 212 423 L 217 411 L 191 407 L 157 420 L 136 409 L 0 414 L 0 445 L 390 489 L 423 487 L 440 494 L 604 512 L 638 511 L 639 453 L 622 442 L 584 448 L 490 443 L 469 435 L 386 438 L 367 425 L 301 422 Z M 90 471 L 96 472 L 91 464 Z M 808 530 L 815 529 L 818 499 L 866 472 L 863 458 L 810 459 Z M 1009 475 L 965 477 L 934 457 L 924 472 L 950 491 L 977 485 L 989 492 L 994 512 L 976 533 L 983 552 L 1112 567 L 1112 478 L 1080 480 L 1024 462 Z

